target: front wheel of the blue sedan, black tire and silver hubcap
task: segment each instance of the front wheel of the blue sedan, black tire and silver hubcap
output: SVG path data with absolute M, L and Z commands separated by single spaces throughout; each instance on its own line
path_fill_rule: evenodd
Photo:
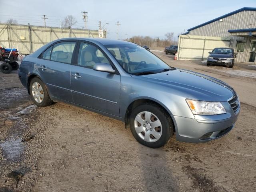
M 148 124 L 146 122 L 147 118 L 145 112 L 150 114 L 151 117 Z M 155 120 L 155 122 L 158 123 L 156 125 L 159 125 L 159 120 L 161 126 L 154 128 L 154 122 L 152 122 L 152 120 Z M 139 121 L 142 122 L 142 124 L 140 124 Z M 154 103 L 142 104 L 132 110 L 130 116 L 130 130 L 134 138 L 140 144 L 150 148 L 164 146 L 174 134 L 174 126 L 170 115 L 162 107 Z M 142 132 L 139 132 L 140 130 L 142 130 Z M 153 134 L 156 137 L 154 137 Z

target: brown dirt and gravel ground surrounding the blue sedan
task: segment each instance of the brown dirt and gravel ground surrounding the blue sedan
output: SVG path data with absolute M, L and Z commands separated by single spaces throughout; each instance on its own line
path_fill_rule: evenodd
M 256 71 L 154 53 L 235 88 L 241 112 L 229 134 L 147 148 L 118 120 L 61 102 L 36 108 L 17 71 L 0 73 L 0 192 L 256 191 Z

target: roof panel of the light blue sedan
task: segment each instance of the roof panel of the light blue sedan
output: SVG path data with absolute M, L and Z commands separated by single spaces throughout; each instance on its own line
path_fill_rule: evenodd
M 84 40 L 84 41 L 89 41 L 89 42 L 98 42 L 102 45 L 134 44 L 134 43 L 128 42 L 128 41 L 106 39 L 106 38 L 62 38 L 62 39 L 58 39 L 58 41 L 59 40 Z

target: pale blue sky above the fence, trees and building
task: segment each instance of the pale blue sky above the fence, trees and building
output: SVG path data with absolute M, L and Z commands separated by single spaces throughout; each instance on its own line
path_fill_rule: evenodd
M 0 0 L 0 22 L 9 18 L 19 24 L 60 26 L 60 20 L 73 15 L 74 28 L 84 27 L 81 11 L 88 12 L 87 28 L 98 30 L 98 21 L 107 28 L 107 38 L 130 38 L 134 35 L 175 37 L 187 29 L 243 7 L 256 7 L 256 0 Z M 117 36 L 116 22 L 119 21 Z M 106 24 L 109 23 L 109 24 Z

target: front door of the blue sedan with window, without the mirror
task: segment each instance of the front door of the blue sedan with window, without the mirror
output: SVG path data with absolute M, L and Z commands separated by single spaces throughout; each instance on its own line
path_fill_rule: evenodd
M 93 70 L 99 62 L 111 64 L 99 48 L 81 42 L 77 65 L 71 70 L 74 103 L 119 116 L 120 75 Z

